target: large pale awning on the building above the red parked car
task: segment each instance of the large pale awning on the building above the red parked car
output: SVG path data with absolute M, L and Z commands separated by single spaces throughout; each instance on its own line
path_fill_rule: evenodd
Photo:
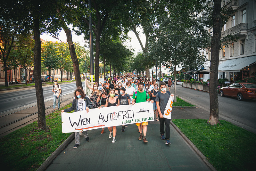
M 250 66 L 256 62 L 256 55 L 244 58 L 229 59 L 219 65 L 219 70 L 224 72 L 239 72 L 244 67 Z

